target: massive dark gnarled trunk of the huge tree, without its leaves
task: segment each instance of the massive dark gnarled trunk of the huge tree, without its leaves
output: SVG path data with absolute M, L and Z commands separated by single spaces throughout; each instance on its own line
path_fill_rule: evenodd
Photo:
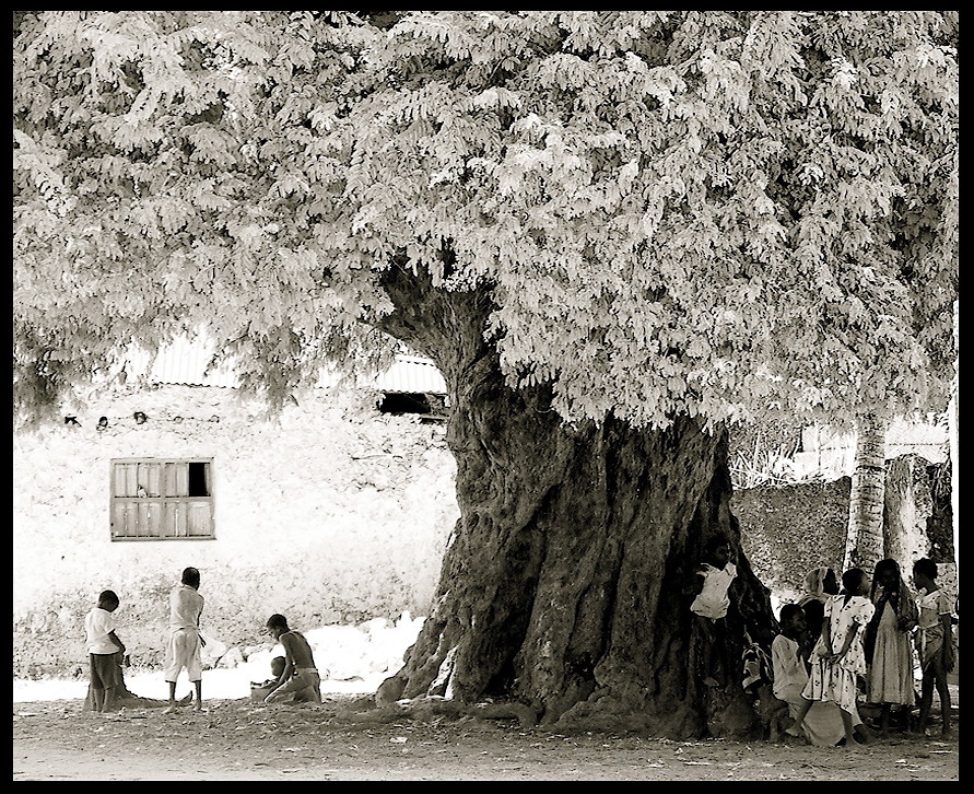
M 509 699 L 560 729 L 753 729 L 742 638 L 747 623 L 770 639 L 773 618 L 729 512 L 726 436 L 685 419 L 666 432 L 567 427 L 543 389 L 504 385 L 482 339 L 483 294 L 402 271 L 386 289 L 399 307 L 387 330 L 447 380 L 461 517 L 436 604 L 380 702 Z M 725 649 L 735 666 L 726 687 L 707 688 L 687 588 L 717 532 L 738 556 Z

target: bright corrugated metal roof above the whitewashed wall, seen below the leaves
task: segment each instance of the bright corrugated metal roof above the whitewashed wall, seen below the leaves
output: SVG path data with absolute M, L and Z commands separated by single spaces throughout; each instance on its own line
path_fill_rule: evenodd
M 207 372 L 212 351 L 201 341 L 180 338 L 160 351 L 150 372 L 150 380 L 159 384 L 181 386 L 215 386 L 236 388 L 233 366 L 222 364 Z M 327 373 L 319 386 L 333 383 Z M 398 355 L 386 372 L 376 377 L 377 392 L 403 394 L 446 394 L 446 383 L 439 370 L 430 359 L 415 355 Z

